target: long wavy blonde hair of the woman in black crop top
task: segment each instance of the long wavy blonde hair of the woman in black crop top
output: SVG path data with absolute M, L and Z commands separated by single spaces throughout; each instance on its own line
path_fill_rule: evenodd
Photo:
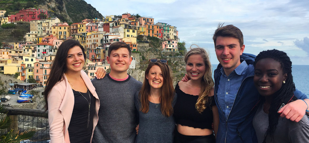
M 204 74 L 204 78 L 201 82 L 201 91 L 198 94 L 198 99 L 197 99 L 197 102 L 195 104 L 196 110 L 199 113 L 201 113 L 207 108 L 208 105 L 210 105 L 211 101 L 209 101 L 209 98 L 207 98 L 207 97 L 211 93 L 211 90 L 214 86 L 214 80 L 212 78 L 212 68 L 211 68 L 211 64 L 210 64 L 209 54 L 203 48 L 198 47 L 198 48 L 194 48 L 194 49 L 191 49 L 190 51 L 188 51 L 188 53 L 184 57 L 184 62 L 187 64 L 188 58 L 191 55 L 194 55 L 194 54 L 201 55 L 201 57 L 204 59 L 204 63 L 205 63 L 205 74 Z

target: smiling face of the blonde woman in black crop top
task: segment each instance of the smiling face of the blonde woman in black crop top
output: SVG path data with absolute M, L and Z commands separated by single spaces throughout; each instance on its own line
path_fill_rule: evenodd
M 200 54 L 193 54 L 188 57 L 186 71 L 191 80 L 201 80 L 206 71 L 204 59 Z

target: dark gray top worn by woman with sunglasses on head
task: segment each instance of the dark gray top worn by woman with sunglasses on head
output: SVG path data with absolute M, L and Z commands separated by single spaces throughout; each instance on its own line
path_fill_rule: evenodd
M 141 102 L 138 93 L 134 95 L 134 102 L 139 114 L 139 128 L 136 143 L 172 143 L 173 132 L 176 126 L 173 115 L 166 117 L 162 115 L 161 104 L 149 102 L 149 111 L 145 114 L 139 111 Z M 172 106 L 177 101 L 175 93 Z M 158 105 L 158 108 L 156 106 Z

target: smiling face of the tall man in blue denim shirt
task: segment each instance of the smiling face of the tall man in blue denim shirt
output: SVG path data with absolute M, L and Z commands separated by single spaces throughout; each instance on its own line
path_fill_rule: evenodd
M 239 40 L 234 37 L 217 37 L 215 51 L 226 75 L 240 65 L 240 55 L 243 54 L 244 49 L 245 46 L 240 46 Z

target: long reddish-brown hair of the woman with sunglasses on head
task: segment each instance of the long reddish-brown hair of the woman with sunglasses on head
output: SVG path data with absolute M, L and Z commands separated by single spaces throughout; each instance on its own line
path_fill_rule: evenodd
M 140 90 L 138 97 L 141 101 L 140 111 L 143 113 L 147 113 L 149 111 L 149 100 L 148 97 L 150 96 L 150 85 L 149 81 L 146 78 L 146 75 L 149 74 L 149 70 L 153 66 L 159 66 L 162 74 L 163 74 L 163 85 L 162 89 L 162 96 L 160 97 L 161 103 L 161 112 L 164 116 L 171 116 L 173 115 L 173 107 L 172 102 L 175 96 L 175 89 L 173 86 L 173 81 L 171 78 L 171 71 L 170 68 L 165 63 L 156 62 L 156 63 L 149 63 L 146 71 L 145 71 L 145 80 L 142 85 L 142 89 Z

